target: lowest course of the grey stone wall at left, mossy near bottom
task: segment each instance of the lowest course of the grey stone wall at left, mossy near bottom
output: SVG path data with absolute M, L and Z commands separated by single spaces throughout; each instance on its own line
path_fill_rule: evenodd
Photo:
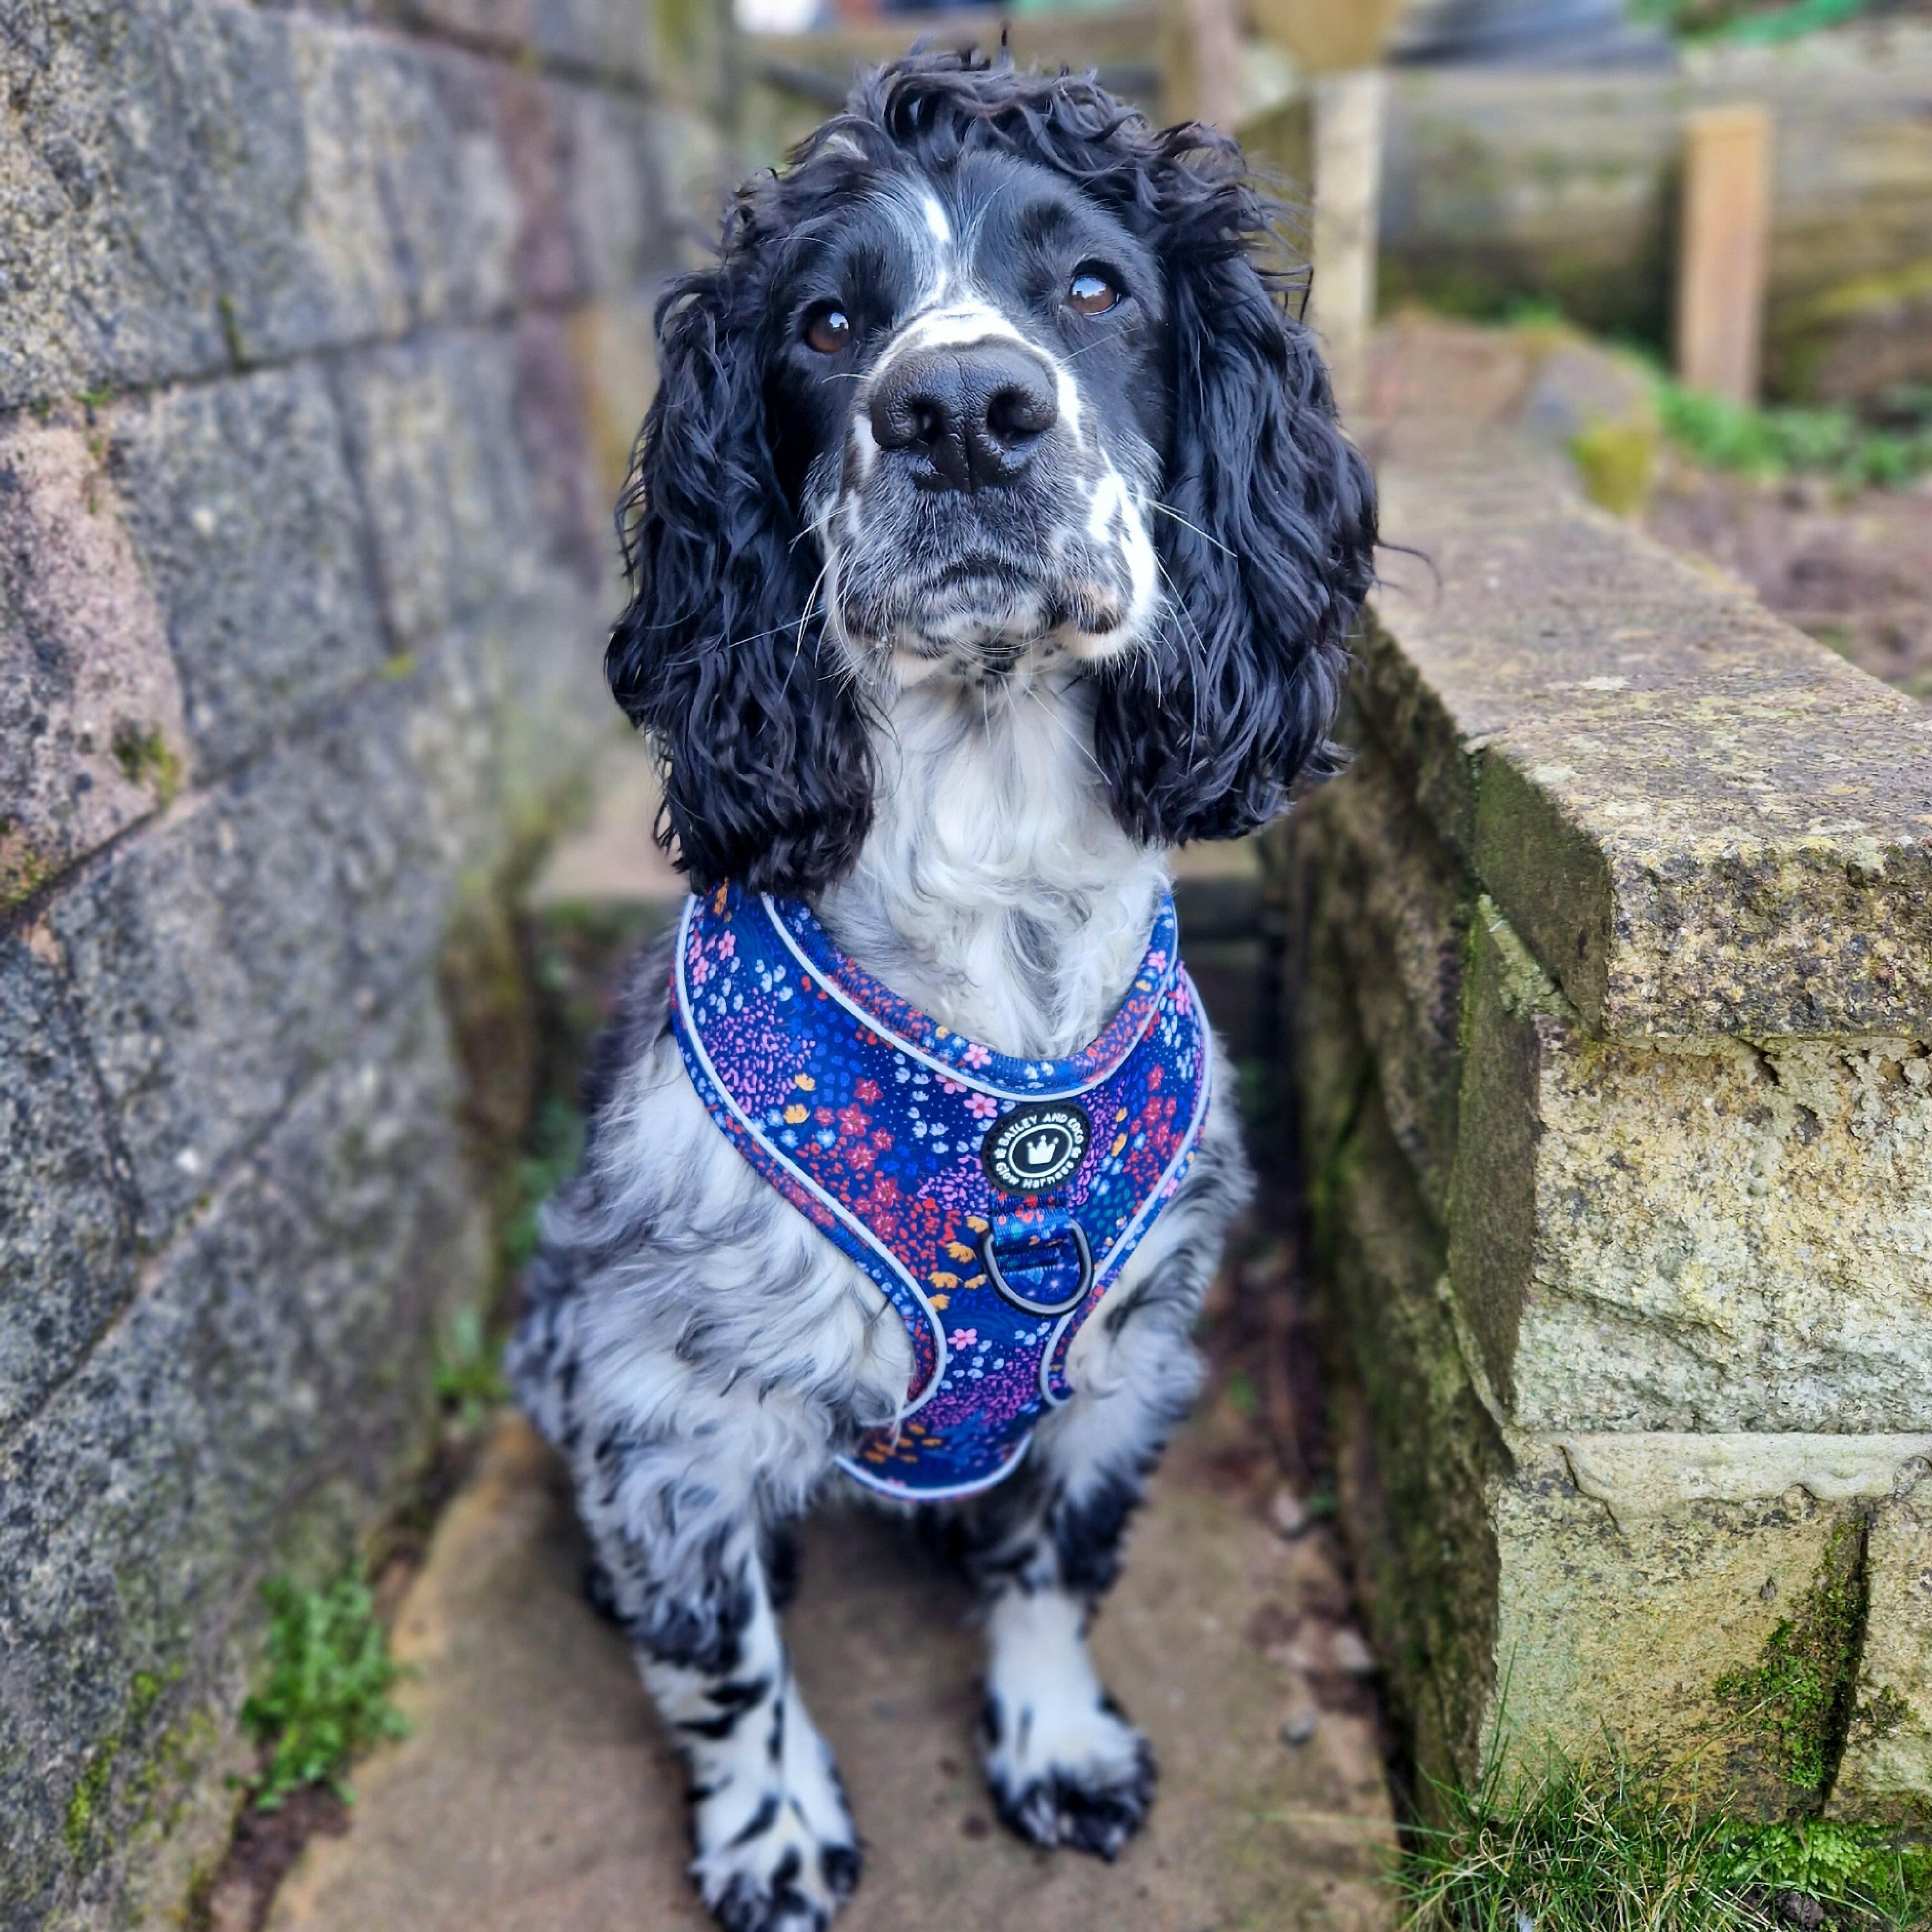
M 452 1103 L 412 997 L 0 1455 L 8 1924 L 164 1922 L 218 1847 L 253 1631 L 238 1578 L 319 1520 L 342 1561 L 423 1428 L 435 1316 L 481 1267 Z

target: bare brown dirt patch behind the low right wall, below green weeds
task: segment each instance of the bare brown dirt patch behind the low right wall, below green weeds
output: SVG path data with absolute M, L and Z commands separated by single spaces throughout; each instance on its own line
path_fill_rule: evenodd
M 1837 493 L 1673 464 L 1648 516 L 1874 678 L 1932 701 L 1932 489 Z

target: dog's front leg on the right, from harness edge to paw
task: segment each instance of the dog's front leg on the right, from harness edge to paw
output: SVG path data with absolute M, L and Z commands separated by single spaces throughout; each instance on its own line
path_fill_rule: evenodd
M 968 1567 L 987 1598 L 981 1756 L 1001 1818 L 1039 1845 L 1111 1859 L 1153 1801 L 1153 1752 L 1101 1687 L 1086 1627 L 1198 1381 L 1194 1300 L 1182 1296 L 1179 1318 L 1173 1302 L 1136 1312 L 1115 1337 L 1105 1393 L 1053 1414 L 1020 1474 L 968 1519 Z

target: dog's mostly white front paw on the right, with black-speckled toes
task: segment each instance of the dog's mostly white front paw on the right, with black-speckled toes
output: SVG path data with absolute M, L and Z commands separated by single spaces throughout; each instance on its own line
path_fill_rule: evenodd
M 1036 1845 L 1113 1859 L 1153 1804 L 1153 1750 L 1107 1696 L 1020 1706 L 989 1690 L 980 1718 L 1001 1822 Z

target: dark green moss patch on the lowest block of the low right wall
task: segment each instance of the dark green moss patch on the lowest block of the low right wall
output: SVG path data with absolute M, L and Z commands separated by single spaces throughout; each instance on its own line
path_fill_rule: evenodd
M 1718 1698 L 1758 1733 L 1797 1810 L 1832 1789 L 1857 1706 L 1864 1638 L 1864 1520 L 1839 1524 L 1810 1590 L 1779 1617 L 1748 1669 L 1725 1671 Z

